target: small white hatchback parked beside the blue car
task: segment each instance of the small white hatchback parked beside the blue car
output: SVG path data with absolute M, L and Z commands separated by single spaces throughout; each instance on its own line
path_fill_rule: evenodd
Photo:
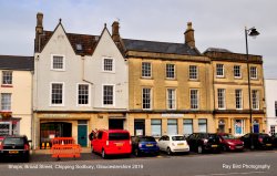
M 189 146 L 183 135 L 164 135 L 158 139 L 157 146 L 168 155 L 177 152 L 189 153 Z

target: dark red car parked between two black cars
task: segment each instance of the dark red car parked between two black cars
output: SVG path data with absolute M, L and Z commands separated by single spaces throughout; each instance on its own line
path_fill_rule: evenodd
M 244 151 L 244 142 L 232 134 L 218 133 L 223 151 Z

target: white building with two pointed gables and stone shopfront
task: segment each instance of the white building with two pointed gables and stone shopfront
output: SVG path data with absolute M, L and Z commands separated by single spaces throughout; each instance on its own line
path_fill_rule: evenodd
M 94 128 L 126 128 L 127 63 L 106 27 L 101 35 L 65 32 L 61 20 L 44 31 L 37 15 L 34 53 L 34 145 L 55 136 L 89 146 Z

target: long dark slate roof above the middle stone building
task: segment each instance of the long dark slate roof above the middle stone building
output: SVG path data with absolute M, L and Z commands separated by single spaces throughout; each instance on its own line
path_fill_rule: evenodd
M 145 40 L 123 39 L 126 50 L 155 52 L 181 55 L 201 55 L 197 49 L 192 49 L 185 43 L 167 43 Z

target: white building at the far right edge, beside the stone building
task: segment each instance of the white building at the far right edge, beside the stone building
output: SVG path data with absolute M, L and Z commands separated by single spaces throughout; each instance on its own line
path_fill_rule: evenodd
M 267 133 L 277 132 L 277 80 L 265 80 Z

